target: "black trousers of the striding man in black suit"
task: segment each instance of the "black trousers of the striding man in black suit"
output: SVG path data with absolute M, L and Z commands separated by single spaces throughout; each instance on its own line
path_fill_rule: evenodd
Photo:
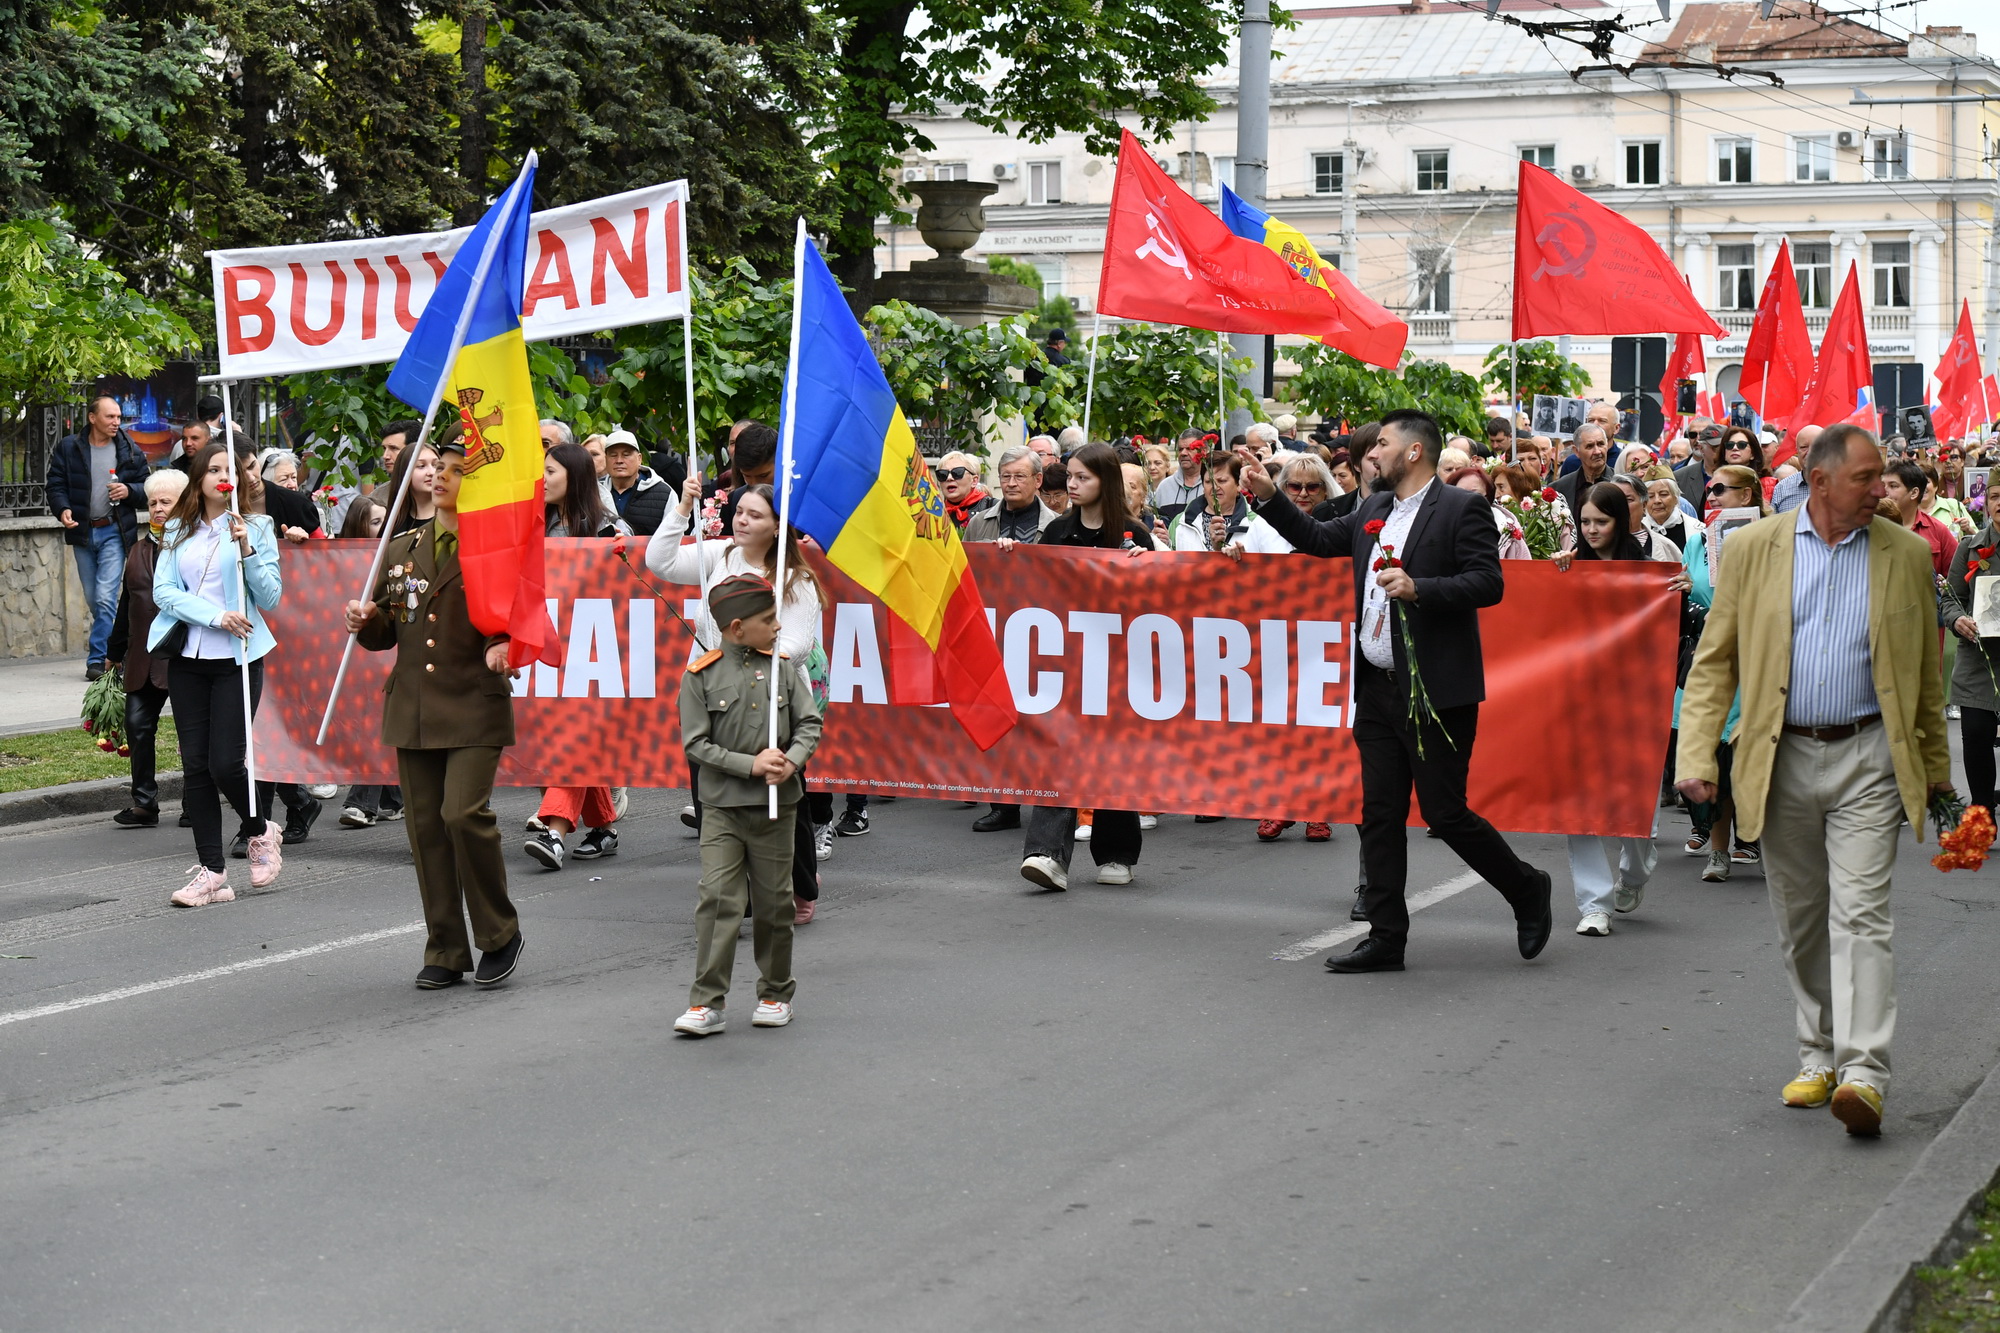
M 1368 891 L 1368 935 L 1400 951 L 1410 937 L 1404 881 L 1410 875 L 1410 789 L 1416 789 L 1424 823 L 1458 853 L 1480 879 L 1520 915 L 1534 903 L 1540 881 L 1514 855 L 1506 839 L 1466 805 L 1466 773 L 1480 707 L 1438 709 L 1438 723 L 1424 725 L 1424 753 L 1416 753 L 1410 707 L 1396 679 L 1356 660 L 1354 747 L 1362 755 L 1362 867 Z

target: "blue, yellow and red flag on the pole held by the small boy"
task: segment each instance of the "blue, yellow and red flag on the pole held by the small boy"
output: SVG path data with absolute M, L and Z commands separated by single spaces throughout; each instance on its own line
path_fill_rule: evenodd
M 1018 715 L 958 526 L 804 224 L 794 272 L 782 422 L 792 526 L 916 630 L 936 656 L 952 717 L 990 751 Z M 896 703 L 906 703 L 902 691 Z

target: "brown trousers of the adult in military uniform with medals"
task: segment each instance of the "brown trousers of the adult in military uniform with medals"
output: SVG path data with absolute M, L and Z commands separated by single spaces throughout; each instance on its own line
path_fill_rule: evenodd
M 472 971 L 472 943 L 492 953 L 514 943 L 520 919 L 506 895 L 506 857 L 494 817 L 498 745 L 456 751 L 396 751 L 404 823 L 424 895 L 426 967 Z M 466 915 L 472 915 L 472 941 Z

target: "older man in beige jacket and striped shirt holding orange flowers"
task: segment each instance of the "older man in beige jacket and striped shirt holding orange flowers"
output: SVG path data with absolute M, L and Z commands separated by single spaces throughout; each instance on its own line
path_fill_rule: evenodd
M 1732 532 L 1680 709 L 1680 789 L 1716 795 L 1716 743 L 1742 689 L 1732 787 L 1764 875 L 1798 1001 L 1788 1107 L 1882 1131 L 1896 963 L 1896 839 L 1952 781 L 1930 546 L 1870 522 L 1882 454 L 1832 426 L 1806 458 L 1808 500 Z

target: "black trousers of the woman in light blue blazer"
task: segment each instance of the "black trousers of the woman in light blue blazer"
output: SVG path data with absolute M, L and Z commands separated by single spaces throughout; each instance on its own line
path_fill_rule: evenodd
M 240 666 L 226 658 L 176 656 L 166 664 L 166 693 L 174 701 L 180 735 L 180 809 L 194 823 L 194 851 L 210 871 L 222 871 L 222 801 L 238 817 L 238 837 L 264 833 L 250 809 L 244 695 Z M 264 693 L 264 662 L 250 662 L 250 709 Z M 262 783 L 258 783 L 262 787 Z

